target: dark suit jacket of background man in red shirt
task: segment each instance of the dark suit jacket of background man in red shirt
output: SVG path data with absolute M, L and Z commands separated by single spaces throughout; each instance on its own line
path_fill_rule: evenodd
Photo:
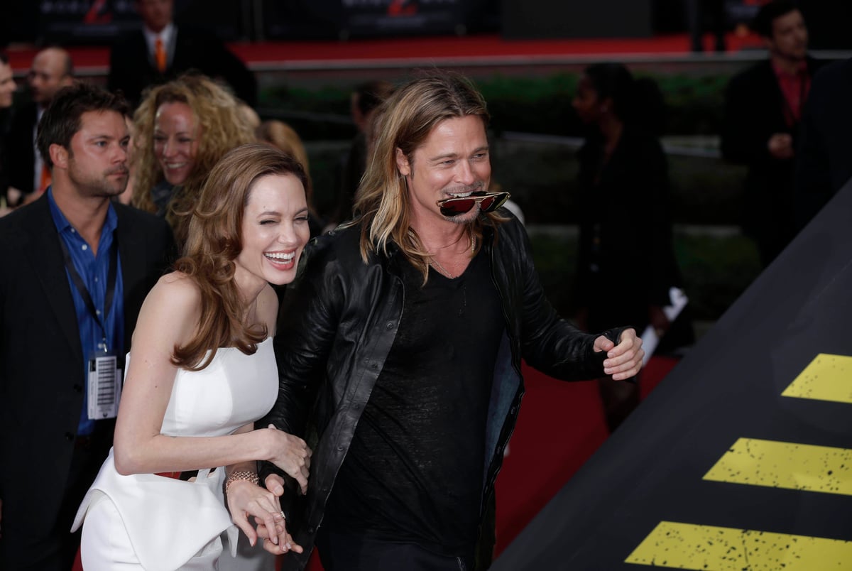
M 810 76 L 819 66 L 818 61 L 808 58 Z M 774 133 L 789 133 L 797 138 L 798 124 L 787 124 L 785 108 L 784 95 L 769 60 L 740 72 L 728 84 L 722 157 L 748 166 L 742 225 L 758 245 L 786 244 L 795 234 L 792 222 L 795 161 L 774 159 L 767 148 Z

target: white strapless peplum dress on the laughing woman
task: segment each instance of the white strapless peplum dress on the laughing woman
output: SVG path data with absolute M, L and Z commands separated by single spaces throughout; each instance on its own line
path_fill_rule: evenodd
M 277 395 L 278 370 L 270 338 L 258 344 L 254 355 L 218 349 L 203 370 L 178 370 L 160 432 L 232 434 L 266 414 Z M 224 471 L 199 470 L 195 482 L 154 474 L 122 476 L 110 450 L 72 528 L 83 525 L 83 568 L 216 568 L 222 553 L 220 535 L 227 531 L 233 552 L 238 532 L 222 497 Z

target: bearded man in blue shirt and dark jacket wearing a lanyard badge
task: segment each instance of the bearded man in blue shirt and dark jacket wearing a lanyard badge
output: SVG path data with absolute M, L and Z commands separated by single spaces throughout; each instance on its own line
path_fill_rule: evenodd
M 163 220 L 112 201 L 127 184 L 125 112 L 104 89 L 61 89 L 37 131 L 53 183 L 0 219 L 3 569 L 71 568 L 136 315 L 172 253 Z

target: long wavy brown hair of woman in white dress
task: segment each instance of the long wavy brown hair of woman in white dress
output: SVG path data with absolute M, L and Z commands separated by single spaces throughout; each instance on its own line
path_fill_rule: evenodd
M 236 347 L 246 355 L 267 337 L 263 324 L 245 323 L 234 260 L 243 249 L 243 216 L 251 188 L 267 175 L 292 175 L 307 187 L 296 159 L 279 149 L 255 143 L 229 151 L 210 171 L 188 225 L 183 257 L 175 262 L 201 291 L 201 317 L 195 335 L 175 347 L 172 362 L 198 371 L 210 364 L 216 349 Z

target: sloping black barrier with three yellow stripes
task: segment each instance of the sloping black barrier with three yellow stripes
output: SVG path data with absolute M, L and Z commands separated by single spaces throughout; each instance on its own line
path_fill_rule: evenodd
M 492 570 L 849 568 L 850 218 L 852 182 Z

